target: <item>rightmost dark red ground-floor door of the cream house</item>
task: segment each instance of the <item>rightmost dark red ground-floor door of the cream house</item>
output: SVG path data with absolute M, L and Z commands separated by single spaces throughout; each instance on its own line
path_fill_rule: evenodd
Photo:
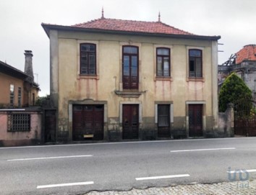
M 202 136 L 202 104 L 189 104 L 189 137 Z

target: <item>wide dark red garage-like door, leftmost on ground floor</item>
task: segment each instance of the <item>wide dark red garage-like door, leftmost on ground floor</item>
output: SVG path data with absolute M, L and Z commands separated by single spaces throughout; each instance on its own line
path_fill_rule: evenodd
M 73 106 L 73 140 L 103 140 L 103 105 Z

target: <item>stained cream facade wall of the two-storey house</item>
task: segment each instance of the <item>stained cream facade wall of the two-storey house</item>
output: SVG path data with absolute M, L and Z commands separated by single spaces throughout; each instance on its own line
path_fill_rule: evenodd
M 46 25 L 47 26 L 47 25 Z M 103 139 L 122 140 L 124 104 L 139 106 L 139 140 L 158 139 L 158 104 L 170 105 L 170 137 L 189 137 L 189 105 L 202 105 L 203 136 L 218 135 L 218 38 L 126 35 L 44 27 L 50 39 L 57 136 L 72 140 L 73 105 L 102 104 Z M 80 43 L 96 45 L 96 76 L 80 75 Z M 123 90 L 122 46 L 139 50 L 139 89 Z M 156 48 L 170 49 L 171 78 L 156 77 Z M 189 49 L 202 50 L 202 78 L 189 78 Z

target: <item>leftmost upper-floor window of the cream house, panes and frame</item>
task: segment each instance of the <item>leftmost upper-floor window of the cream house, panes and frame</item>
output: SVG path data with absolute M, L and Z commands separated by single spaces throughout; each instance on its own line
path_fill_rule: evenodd
M 80 74 L 96 75 L 96 45 L 91 43 L 80 44 Z

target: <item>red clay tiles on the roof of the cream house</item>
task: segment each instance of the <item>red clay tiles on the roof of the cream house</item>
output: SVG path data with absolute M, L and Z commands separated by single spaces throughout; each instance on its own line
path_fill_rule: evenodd
M 194 35 L 184 30 L 171 27 L 163 22 L 142 22 L 123 19 L 95 19 L 90 22 L 74 24 L 72 27 L 81 27 L 94 30 L 113 30 L 124 32 L 147 32 L 169 35 Z

